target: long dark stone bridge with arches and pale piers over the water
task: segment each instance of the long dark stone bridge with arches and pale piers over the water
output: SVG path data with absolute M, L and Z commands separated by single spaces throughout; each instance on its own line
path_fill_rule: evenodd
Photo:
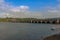
M 27 23 L 41 23 L 41 24 L 60 24 L 60 20 L 30 20 L 30 21 L 26 21 Z

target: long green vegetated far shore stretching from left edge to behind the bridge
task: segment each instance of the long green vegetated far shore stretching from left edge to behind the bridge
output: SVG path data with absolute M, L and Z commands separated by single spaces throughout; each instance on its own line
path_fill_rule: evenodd
M 22 23 L 26 23 L 26 22 L 31 22 L 31 20 L 35 21 L 35 20 L 57 20 L 57 18 L 46 18 L 46 19 L 37 19 L 37 18 L 0 18 L 0 22 L 22 22 Z

